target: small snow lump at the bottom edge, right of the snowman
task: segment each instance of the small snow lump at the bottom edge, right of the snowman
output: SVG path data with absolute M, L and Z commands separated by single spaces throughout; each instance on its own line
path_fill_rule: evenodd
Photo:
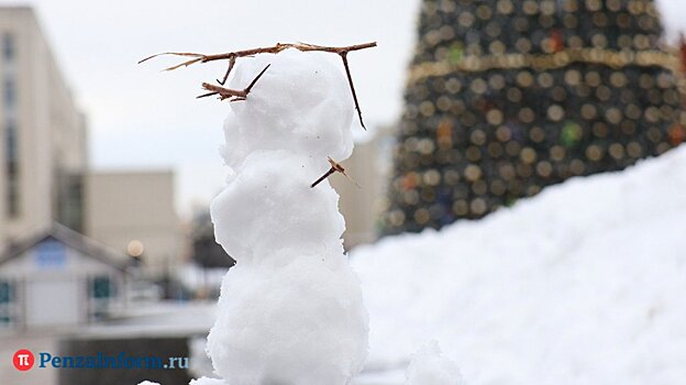
M 436 341 L 419 350 L 407 371 L 406 385 L 461 385 L 460 369 L 450 359 L 441 355 Z

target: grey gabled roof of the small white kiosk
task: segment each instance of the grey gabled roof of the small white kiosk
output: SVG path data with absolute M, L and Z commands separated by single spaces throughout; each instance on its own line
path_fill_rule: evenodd
M 0 265 L 20 256 L 25 251 L 31 250 L 46 239 L 54 239 L 88 257 L 92 257 L 93 260 L 98 260 L 121 271 L 126 268 L 130 261 L 124 253 L 119 253 L 77 231 L 53 222 L 47 229 L 43 229 L 18 242 L 11 243 L 0 255 Z

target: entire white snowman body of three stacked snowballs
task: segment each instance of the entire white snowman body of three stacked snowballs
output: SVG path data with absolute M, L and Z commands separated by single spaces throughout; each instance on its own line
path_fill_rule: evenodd
M 367 314 L 343 253 L 339 196 L 328 182 L 310 185 L 328 156 L 351 155 L 354 107 L 341 70 L 313 53 L 240 62 L 229 87 L 243 89 L 268 64 L 224 124 L 231 170 L 211 215 L 237 263 L 207 351 L 231 385 L 343 385 L 366 359 Z

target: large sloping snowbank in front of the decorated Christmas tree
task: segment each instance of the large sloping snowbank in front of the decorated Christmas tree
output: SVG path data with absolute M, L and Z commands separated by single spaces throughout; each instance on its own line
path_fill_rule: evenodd
M 369 370 L 436 339 L 471 385 L 683 384 L 686 146 L 352 252 Z

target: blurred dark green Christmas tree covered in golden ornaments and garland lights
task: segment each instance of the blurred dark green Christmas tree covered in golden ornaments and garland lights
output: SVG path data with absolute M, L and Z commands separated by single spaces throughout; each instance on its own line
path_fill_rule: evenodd
M 385 232 L 480 218 L 685 138 L 651 0 L 424 0 Z

